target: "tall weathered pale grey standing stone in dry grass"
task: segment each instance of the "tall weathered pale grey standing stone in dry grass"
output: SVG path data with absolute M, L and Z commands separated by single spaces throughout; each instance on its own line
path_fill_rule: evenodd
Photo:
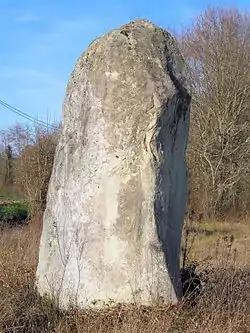
M 147 20 L 79 58 L 44 214 L 41 294 L 82 308 L 181 296 L 189 104 L 176 42 Z

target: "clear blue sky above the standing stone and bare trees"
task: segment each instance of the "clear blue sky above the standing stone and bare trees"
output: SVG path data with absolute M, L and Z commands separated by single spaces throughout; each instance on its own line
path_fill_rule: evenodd
M 179 30 L 207 6 L 248 0 L 0 0 L 0 100 L 50 122 L 61 117 L 69 75 L 88 44 L 136 18 Z M 0 106 L 0 129 L 23 121 Z

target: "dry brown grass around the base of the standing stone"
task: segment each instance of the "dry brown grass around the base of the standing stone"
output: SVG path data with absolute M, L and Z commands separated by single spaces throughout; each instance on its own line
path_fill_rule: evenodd
M 60 312 L 53 303 L 40 299 L 34 290 L 37 264 L 39 219 L 22 229 L 0 234 L 0 332 L 89 332 L 89 333 L 247 333 L 250 332 L 250 273 L 240 260 L 235 261 L 226 225 L 203 225 L 219 230 L 199 234 L 193 253 L 202 256 L 207 246 L 217 244 L 217 259 L 206 261 L 201 271 L 208 279 L 196 305 L 151 308 L 118 306 L 102 312 L 71 310 Z M 242 228 L 242 229 L 241 229 Z M 230 226 L 235 244 L 250 236 L 246 225 Z M 217 233 L 217 234 L 216 234 Z M 215 236 L 215 234 L 218 236 Z M 208 238 L 209 242 L 208 242 Z M 224 240 L 223 240 L 224 237 Z M 222 239 L 218 243 L 217 238 Z M 203 244 L 203 247 L 202 247 Z M 230 245 L 230 246 L 229 246 Z M 203 248 L 203 252 L 202 252 Z M 244 246 L 240 248 L 244 255 Z M 212 250 L 211 250 L 212 251 Z M 241 253 L 240 252 L 240 253 Z M 211 252 L 212 253 L 212 252 Z M 218 255 L 220 253 L 220 255 Z

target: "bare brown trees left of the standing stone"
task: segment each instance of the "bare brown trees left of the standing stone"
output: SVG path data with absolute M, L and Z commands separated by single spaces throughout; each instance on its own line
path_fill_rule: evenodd
M 5 183 L 11 178 L 8 185 L 29 200 L 31 213 L 45 208 L 59 133 L 60 126 L 51 130 L 35 124 L 16 124 L 1 133 Z

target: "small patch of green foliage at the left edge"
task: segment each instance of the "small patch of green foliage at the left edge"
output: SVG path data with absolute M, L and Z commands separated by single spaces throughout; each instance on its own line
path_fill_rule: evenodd
M 29 216 L 25 202 L 7 202 L 0 204 L 0 225 L 11 226 L 22 224 Z

